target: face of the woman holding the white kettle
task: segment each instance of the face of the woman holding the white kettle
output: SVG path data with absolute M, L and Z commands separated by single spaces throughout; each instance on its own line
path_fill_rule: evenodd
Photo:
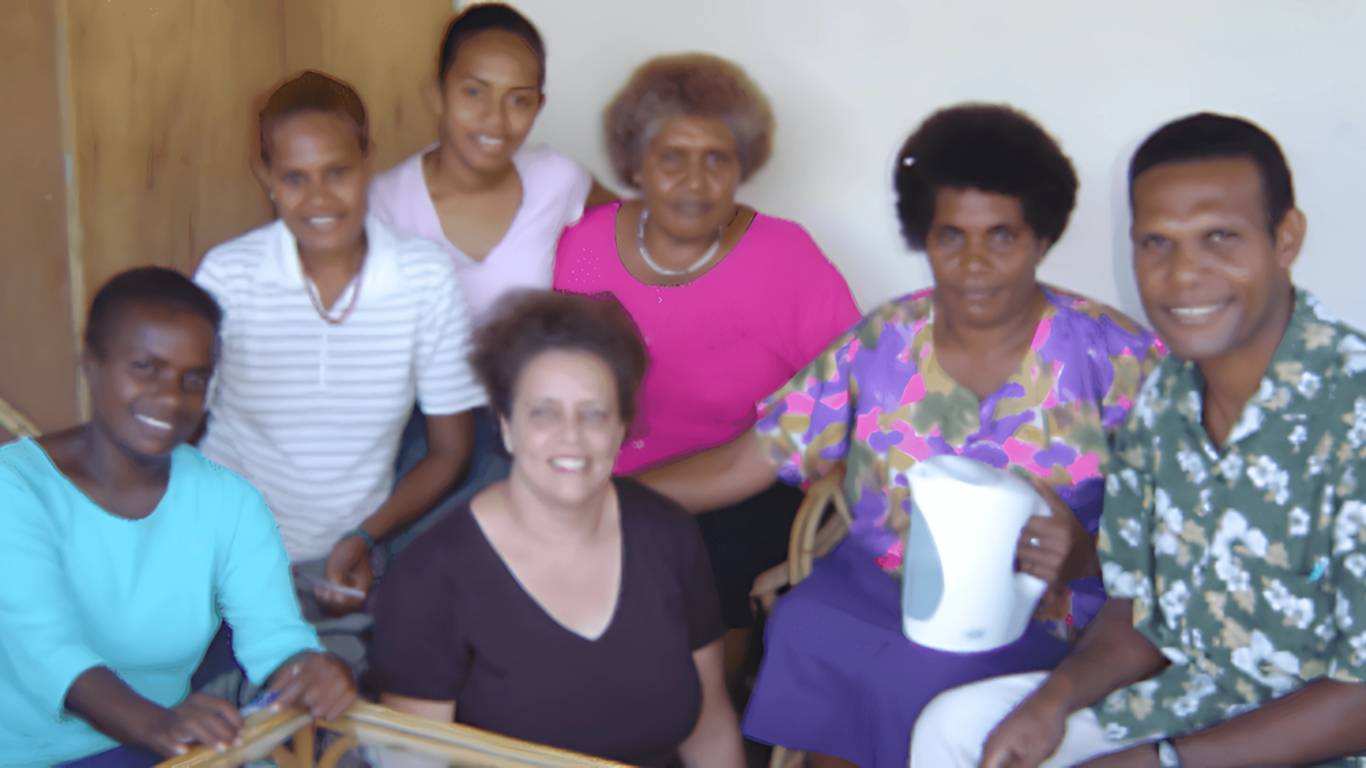
M 1019 198 L 938 190 L 925 238 L 936 309 L 968 327 L 1022 321 L 1038 295 L 1034 271 L 1048 245 L 1024 221 Z

